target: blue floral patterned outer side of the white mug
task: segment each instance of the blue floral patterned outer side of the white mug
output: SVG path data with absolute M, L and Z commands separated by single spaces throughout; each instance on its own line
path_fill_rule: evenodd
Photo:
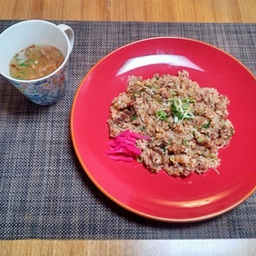
M 49 78 L 34 83 L 10 82 L 32 102 L 40 105 L 50 105 L 64 96 L 67 80 L 68 63 Z

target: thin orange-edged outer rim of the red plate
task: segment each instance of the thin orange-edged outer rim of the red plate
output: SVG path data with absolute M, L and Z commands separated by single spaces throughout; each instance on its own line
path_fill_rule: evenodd
M 124 46 L 121 46 L 119 48 L 117 48 L 116 50 L 113 50 L 112 52 L 110 52 L 109 54 L 107 54 L 106 56 L 104 56 L 102 59 L 100 59 L 98 62 L 96 62 L 96 64 L 94 64 L 94 66 L 92 66 L 92 68 L 90 68 L 90 70 L 88 71 L 88 73 L 84 76 L 84 79 L 82 80 L 82 82 L 80 83 L 76 94 L 74 96 L 74 100 L 73 100 L 73 104 L 72 104 L 72 109 L 71 109 L 71 114 L 70 114 L 70 133 L 71 133 L 71 139 L 72 139 L 72 143 L 74 146 L 74 150 L 76 152 L 76 156 L 78 157 L 78 160 L 80 162 L 80 164 L 82 165 L 82 168 L 84 169 L 84 171 L 86 172 L 86 174 L 89 176 L 90 180 L 92 180 L 92 182 L 97 186 L 97 188 L 106 196 L 108 196 L 108 198 L 110 198 L 112 201 L 114 201 L 116 204 L 122 206 L 123 208 L 125 208 L 126 210 L 129 210 L 130 212 L 133 212 L 135 214 L 138 214 L 140 216 L 146 217 L 146 218 L 150 218 L 153 220 L 159 220 L 159 221 L 163 221 L 163 222 L 198 222 L 198 221 L 202 221 L 202 220 L 208 220 L 211 218 L 214 218 L 216 216 L 220 216 L 226 212 L 229 212 L 230 210 L 236 208 L 239 204 L 241 204 L 242 202 L 244 202 L 248 197 L 250 197 L 255 191 L 256 191 L 256 185 L 255 187 L 248 193 L 246 194 L 246 196 L 244 196 L 243 198 L 241 198 L 238 202 L 236 202 L 235 204 L 233 204 L 232 206 L 229 206 L 223 210 L 220 211 L 216 211 L 212 214 L 208 214 L 208 215 L 204 215 L 204 216 L 200 216 L 200 217 L 196 217 L 196 218 L 183 218 L 183 219 L 176 219 L 176 218 L 161 218 L 158 216 L 153 216 L 150 214 L 146 214 L 144 212 L 140 212 L 138 210 L 135 210 L 129 206 L 127 206 L 126 204 L 123 204 L 122 202 L 120 202 L 119 200 L 117 200 L 115 197 L 113 197 L 111 194 L 109 194 L 106 190 L 104 190 L 104 188 L 102 188 L 102 186 L 100 186 L 100 184 L 98 184 L 98 182 L 94 179 L 94 177 L 90 174 L 90 171 L 87 169 L 85 163 L 82 161 L 82 158 L 79 154 L 79 150 L 77 148 L 76 145 L 76 140 L 75 140 L 75 136 L 74 136 L 74 111 L 75 111 L 75 105 L 76 105 L 76 99 L 78 97 L 78 94 L 80 92 L 80 89 L 82 88 L 82 85 L 84 84 L 85 80 L 87 79 L 88 75 L 92 72 L 92 70 L 94 70 L 94 68 L 96 68 L 96 66 L 98 66 L 98 64 L 100 64 L 100 62 L 102 62 L 105 58 L 108 58 L 108 56 L 112 55 L 114 52 L 125 48 L 127 46 L 130 46 L 132 44 L 136 44 L 138 42 L 143 42 L 143 41 L 148 41 L 148 40 L 154 40 L 154 39 L 163 39 L 163 38 L 172 38 L 172 39 L 182 39 L 182 40 L 188 40 L 188 41 L 194 41 L 194 42 L 199 42 L 200 44 L 205 44 L 207 46 L 210 46 L 212 48 L 215 48 L 218 51 L 221 51 L 222 53 L 228 55 L 230 58 L 232 58 L 233 60 L 235 60 L 236 62 L 238 62 L 255 80 L 256 82 L 256 78 L 255 76 L 252 74 L 252 72 L 246 67 L 244 66 L 244 64 L 242 64 L 242 62 L 240 62 L 239 60 L 237 60 L 236 58 L 234 58 L 232 55 L 230 55 L 229 53 L 225 52 L 224 50 L 221 50 L 220 48 L 213 46 L 211 44 L 208 44 L 206 42 L 202 42 L 196 39 L 192 39 L 192 38 L 184 38 L 184 37 L 176 37 L 176 36 L 159 36 L 159 37 L 152 37 L 152 38 L 145 38 L 142 40 L 137 40 L 135 42 L 126 44 Z

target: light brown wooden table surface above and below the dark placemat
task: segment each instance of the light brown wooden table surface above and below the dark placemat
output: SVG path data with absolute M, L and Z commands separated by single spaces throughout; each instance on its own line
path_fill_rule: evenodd
M 256 0 L 0 0 L 1 19 L 254 22 Z M 0 255 L 256 255 L 256 240 L 11 240 Z

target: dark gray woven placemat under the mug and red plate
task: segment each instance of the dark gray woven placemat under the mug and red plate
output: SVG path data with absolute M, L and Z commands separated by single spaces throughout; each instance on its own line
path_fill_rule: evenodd
M 0 21 L 0 32 L 17 21 Z M 37 106 L 0 78 L 0 239 L 254 238 L 256 194 L 212 220 L 173 224 L 132 214 L 84 173 L 70 140 L 70 109 L 89 68 L 110 51 L 153 36 L 213 44 L 256 74 L 256 24 L 55 21 L 74 29 L 66 96 Z

